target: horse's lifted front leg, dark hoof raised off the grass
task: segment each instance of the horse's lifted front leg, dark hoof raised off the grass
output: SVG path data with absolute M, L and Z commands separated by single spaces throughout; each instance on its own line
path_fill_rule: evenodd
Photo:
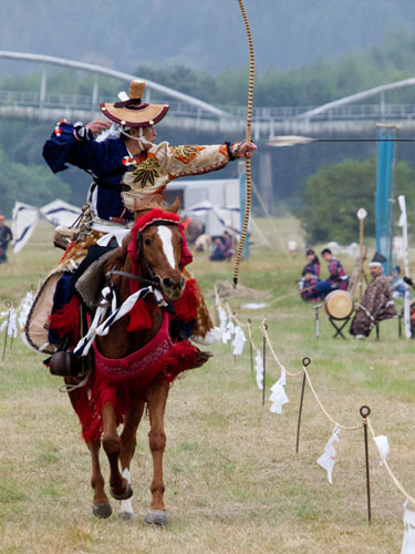
M 118 459 L 121 439 L 116 430 L 116 414 L 113 404 L 106 402 L 102 409 L 103 439 L 102 444 L 110 462 L 110 492 L 116 500 L 126 500 L 133 495 L 128 480 L 120 472 Z

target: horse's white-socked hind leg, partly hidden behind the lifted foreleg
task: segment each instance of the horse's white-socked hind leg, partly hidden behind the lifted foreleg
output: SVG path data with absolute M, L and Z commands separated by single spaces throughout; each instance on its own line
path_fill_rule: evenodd
M 124 418 L 124 429 L 121 433 L 121 469 L 123 472 L 123 478 L 125 478 L 131 484 L 131 472 L 129 465 L 134 455 L 135 447 L 137 443 L 136 434 L 139 421 L 143 417 L 144 411 L 144 400 L 139 399 L 129 410 L 127 410 Z M 120 520 L 132 520 L 134 517 L 132 500 L 122 500 L 118 513 Z

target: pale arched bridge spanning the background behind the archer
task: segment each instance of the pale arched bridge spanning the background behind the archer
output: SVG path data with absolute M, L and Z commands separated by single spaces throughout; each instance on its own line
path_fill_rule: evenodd
M 70 121 L 90 121 L 101 115 L 100 102 L 112 102 L 114 96 L 100 94 L 98 75 L 120 80 L 120 89 L 139 78 L 90 63 L 65 60 L 50 55 L 0 51 L 0 60 L 31 62 L 41 75 L 38 92 L 0 90 L 0 117 L 15 117 L 56 122 L 62 117 Z M 73 69 L 93 74 L 90 94 L 54 94 L 48 91 L 48 70 L 51 66 Z M 321 136 L 323 134 L 361 134 L 373 132 L 376 123 L 400 124 L 402 130 L 415 129 L 415 105 L 388 104 L 390 91 L 413 86 L 415 79 L 363 91 L 319 107 L 284 106 L 255 107 L 252 113 L 252 136 L 255 141 L 272 138 L 276 135 L 298 134 Z M 374 99 L 375 103 L 367 102 Z M 217 107 L 201 100 L 184 94 L 159 83 L 146 80 L 145 101 L 168 103 L 169 116 L 163 125 L 174 129 L 212 134 L 243 134 L 246 106 Z

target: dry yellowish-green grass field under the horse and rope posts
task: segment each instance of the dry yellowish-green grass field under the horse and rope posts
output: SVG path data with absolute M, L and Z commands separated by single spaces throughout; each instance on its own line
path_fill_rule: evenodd
M 252 320 L 255 340 L 266 318 L 276 352 L 293 372 L 311 358 L 310 375 L 319 397 L 335 420 L 361 422 L 369 404 L 376 434 L 390 440 L 390 464 L 415 494 L 414 343 L 397 338 L 396 320 L 381 326 L 381 339 L 332 339 L 321 312 L 315 339 L 314 312 L 295 293 L 303 254 L 287 255 L 281 242 L 299 239 L 293 219 L 258 222 L 272 238 L 252 249 L 241 266 L 240 285 L 268 295 L 262 310 L 241 306 L 238 318 Z M 278 230 L 277 239 L 274 232 Z M 300 240 L 299 240 L 300 242 Z M 44 278 L 61 250 L 51 246 L 51 228 L 40 225 L 25 249 L 0 266 L 0 302 L 19 301 Z M 212 264 L 198 254 L 196 277 L 214 307 L 217 281 L 231 280 L 232 265 Z M 349 270 L 352 259 L 345 259 Z M 325 268 L 324 268 L 325 269 Z M 279 298 L 286 297 L 282 300 Z M 224 300 L 225 301 L 225 300 Z M 0 308 L 0 311 L 3 308 Z M 3 336 L 0 336 L 2 351 Z M 138 430 L 133 461 L 132 522 L 116 515 L 92 516 L 90 455 L 60 378 L 49 375 L 42 357 L 18 339 L 0 362 L 0 552 L 1 553 L 397 553 L 403 536 L 404 497 L 378 464 L 370 444 L 372 517 L 367 525 L 363 431 L 342 431 L 336 444 L 333 484 L 317 464 L 331 435 L 328 421 L 305 390 L 300 452 L 295 431 L 301 378 L 288 378 L 290 403 L 281 416 L 269 411 L 251 375 L 249 349 L 234 361 L 229 346 L 212 347 L 215 357 L 172 388 L 166 417 L 165 501 L 169 525 L 153 529 L 143 521 L 149 506 L 148 421 Z M 267 388 L 279 377 L 267 357 Z M 103 459 L 107 473 L 107 464 Z M 116 507 L 115 501 L 113 507 Z

